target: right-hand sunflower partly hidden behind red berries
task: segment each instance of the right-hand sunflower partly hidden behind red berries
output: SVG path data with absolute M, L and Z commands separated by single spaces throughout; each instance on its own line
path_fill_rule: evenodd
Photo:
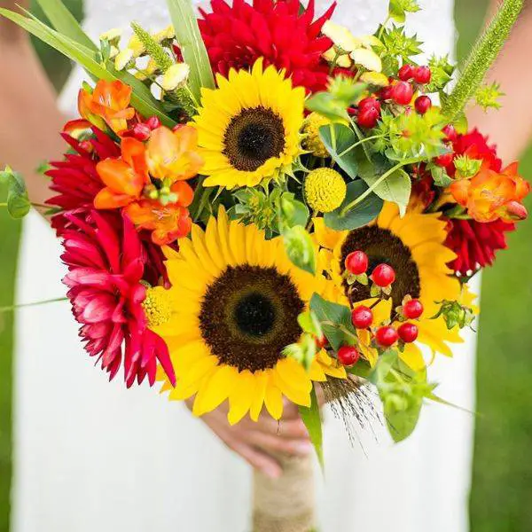
M 325 228 L 323 220 L 316 220 L 316 236 L 322 246 L 321 265 L 329 271 L 335 285 L 329 294 L 331 297 L 343 299 L 344 304 L 350 300 L 353 305 L 372 305 L 377 301 L 370 298 L 368 286 L 356 284 L 348 293 L 348 285 L 342 277 L 348 254 L 362 250 L 370 259 L 369 273 L 379 263 L 385 262 L 394 268 L 396 274 L 390 299 L 380 301 L 373 309 L 375 323 L 389 319 L 394 321 L 395 309 L 401 306 L 405 296 L 411 295 L 419 299 L 425 309 L 416 322 L 419 327 L 417 343 L 426 345 L 433 355 L 442 353 L 452 356 L 448 343 L 463 341 L 458 329 L 450 331 L 443 317 L 431 318 L 439 309 L 437 301 L 456 300 L 470 305 L 473 295 L 451 276 L 448 264 L 456 255 L 444 245 L 446 223 L 438 216 L 407 212 L 401 218 L 395 204 L 386 203 L 374 223 L 354 231 L 331 231 Z M 364 338 L 364 332 L 362 337 L 364 356 L 373 364 L 377 352 L 369 347 L 369 339 Z M 414 370 L 426 365 L 419 345 L 407 344 L 400 356 Z

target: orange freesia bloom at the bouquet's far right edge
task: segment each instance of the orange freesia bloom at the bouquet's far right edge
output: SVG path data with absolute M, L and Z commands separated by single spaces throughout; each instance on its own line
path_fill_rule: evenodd
M 514 162 L 500 173 L 484 164 L 471 179 L 460 179 L 450 185 L 450 193 L 458 205 L 477 222 L 522 220 L 528 216 L 521 201 L 530 192 L 530 184 L 518 173 Z

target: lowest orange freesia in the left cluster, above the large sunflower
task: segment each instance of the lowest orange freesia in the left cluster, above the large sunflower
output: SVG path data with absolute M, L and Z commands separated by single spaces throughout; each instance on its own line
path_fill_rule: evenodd
M 184 181 L 171 188 L 176 194 L 175 203 L 161 205 L 157 200 L 140 200 L 126 207 L 131 222 L 140 229 L 152 231 L 153 243 L 164 246 L 176 239 L 186 237 L 192 228 L 192 219 L 186 207 L 192 203 L 194 192 Z

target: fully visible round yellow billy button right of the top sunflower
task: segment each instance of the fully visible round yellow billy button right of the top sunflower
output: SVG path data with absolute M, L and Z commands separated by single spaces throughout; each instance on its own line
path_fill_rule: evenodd
M 330 213 L 345 200 L 347 186 L 343 177 L 332 168 L 316 168 L 305 179 L 305 197 L 311 208 Z

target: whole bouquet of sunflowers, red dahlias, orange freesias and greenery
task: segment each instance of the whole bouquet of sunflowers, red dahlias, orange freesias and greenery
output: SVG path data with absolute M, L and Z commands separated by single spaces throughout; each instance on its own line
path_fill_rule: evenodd
M 0 12 L 92 81 L 45 171 L 89 355 L 198 416 L 227 401 L 231 424 L 295 403 L 320 458 L 323 401 L 367 416 L 374 390 L 393 439 L 411 434 L 424 403 L 444 402 L 427 367 L 473 324 L 466 282 L 527 217 L 517 163 L 503 168 L 464 113 L 498 106 L 482 80 L 522 0 L 501 5 L 452 90 L 446 57 L 416 62 L 415 0 L 391 0 L 363 36 L 331 21 L 335 4 L 317 17 L 313 0 L 213 0 L 197 20 L 168 0 L 173 26 L 132 23 L 125 46 L 39 4 L 52 27 Z M 26 214 L 20 176 L 3 176 Z M 255 528 L 285 529 L 276 514 L 312 528 L 309 494 L 267 482 Z

